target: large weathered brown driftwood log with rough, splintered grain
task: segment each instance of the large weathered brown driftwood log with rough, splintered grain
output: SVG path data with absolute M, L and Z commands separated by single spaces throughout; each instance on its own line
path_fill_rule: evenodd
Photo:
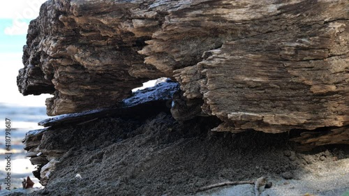
M 24 95 L 52 93 L 47 114 L 57 115 L 110 107 L 171 77 L 179 120 L 213 115 L 223 121 L 214 130 L 234 133 L 341 128 L 348 19 L 348 0 L 51 0 L 29 25 L 17 84 Z M 311 141 L 304 135 L 297 141 Z

